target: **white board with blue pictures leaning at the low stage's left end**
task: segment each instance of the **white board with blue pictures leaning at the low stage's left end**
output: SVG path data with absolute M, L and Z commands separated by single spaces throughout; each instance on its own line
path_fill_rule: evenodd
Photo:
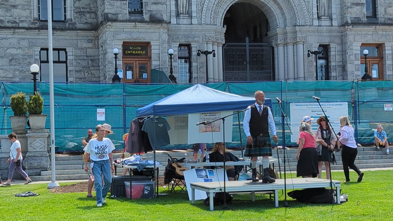
M 187 186 L 188 199 L 191 201 L 191 182 L 217 182 L 220 181 L 224 189 L 224 169 L 189 169 L 183 172 L 185 186 Z M 228 177 L 225 175 L 225 181 Z M 195 190 L 195 200 L 206 199 L 208 194 L 201 190 Z

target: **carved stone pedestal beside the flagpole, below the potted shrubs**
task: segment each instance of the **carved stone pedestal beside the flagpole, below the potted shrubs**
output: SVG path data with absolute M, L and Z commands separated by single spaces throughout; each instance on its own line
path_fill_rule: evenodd
M 49 130 L 28 130 L 27 153 L 23 164 L 29 176 L 39 176 L 41 171 L 50 169 L 49 160 Z M 52 159 L 54 160 L 54 159 Z

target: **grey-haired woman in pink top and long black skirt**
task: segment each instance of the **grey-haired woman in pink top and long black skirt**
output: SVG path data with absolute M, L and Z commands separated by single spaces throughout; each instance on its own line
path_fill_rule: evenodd
M 315 134 L 312 132 L 311 126 L 306 122 L 300 123 L 299 131 L 296 176 L 303 178 L 317 177 L 319 156 L 315 146 Z

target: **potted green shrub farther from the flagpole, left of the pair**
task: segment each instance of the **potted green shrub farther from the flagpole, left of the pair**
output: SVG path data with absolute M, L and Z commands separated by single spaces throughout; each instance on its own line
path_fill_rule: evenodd
M 10 116 L 11 127 L 13 131 L 24 131 L 26 130 L 27 121 L 27 101 L 26 94 L 18 92 L 11 96 L 11 109 L 14 112 L 14 116 Z

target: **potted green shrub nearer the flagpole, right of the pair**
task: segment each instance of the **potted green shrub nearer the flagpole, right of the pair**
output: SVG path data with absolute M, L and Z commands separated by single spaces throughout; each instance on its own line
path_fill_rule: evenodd
M 47 115 L 42 114 L 42 110 L 44 110 L 44 98 L 41 97 L 39 92 L 30 95 L 28 110 L 30 129 L 44 129 Z

